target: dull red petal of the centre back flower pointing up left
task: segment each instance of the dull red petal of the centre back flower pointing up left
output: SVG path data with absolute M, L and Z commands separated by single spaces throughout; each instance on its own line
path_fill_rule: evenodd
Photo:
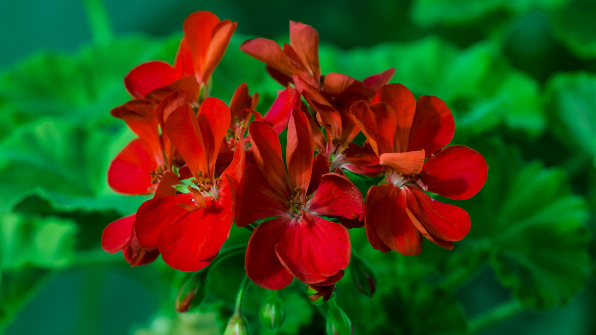
M 294 68 L 285 57 L 284 51 L 277 42 L 266 38 L 254 38 L 244 41 L 240 49 L 272 67 L 282 75 L 293 76 Z

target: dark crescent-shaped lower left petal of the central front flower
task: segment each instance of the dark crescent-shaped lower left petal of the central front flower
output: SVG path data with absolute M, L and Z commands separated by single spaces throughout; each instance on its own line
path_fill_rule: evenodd
M 290 222 L 291 218 L 287 216 L 265 221 L 250 235 L 244 268 L 250 280 L 263 289 L 283 289 L 293 280 L 292 275 L 284 268 L 275 253 L 275 244 Z

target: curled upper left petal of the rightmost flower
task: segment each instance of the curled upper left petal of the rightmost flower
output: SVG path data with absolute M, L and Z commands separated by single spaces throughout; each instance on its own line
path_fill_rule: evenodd
M 394 152 L 393 137 L 397 119 L 389 105 L 376 103 L 368 106 L 366 101 L 358 101 L 350 107 L 350 111 L 377 156 Z

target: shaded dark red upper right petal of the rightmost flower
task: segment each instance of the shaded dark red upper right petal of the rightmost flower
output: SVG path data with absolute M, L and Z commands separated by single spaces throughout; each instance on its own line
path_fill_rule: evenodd
M 407 151 L 424 149 L 430 156 L 448 145 L 454 134 L 455 122 L 447 105 L 430 95 L 418 98 Z

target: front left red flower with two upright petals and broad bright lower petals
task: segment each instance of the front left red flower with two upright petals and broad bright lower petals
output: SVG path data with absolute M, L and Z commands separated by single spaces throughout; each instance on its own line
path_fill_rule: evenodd
M 215 258 L 234 222 L 235 197 L 244 170 L 244 147 L 222 173 L 216 157 L 229 127 L 230 111 L 217 98 L 207 98 L 195 116 L 190 104 L 169 113 L 165 129 L 192 173 L 190 193 L 154 198 L 141 204 L 134 228 L 144 250 L 162 253 L 167 265 L 198 271 Z

